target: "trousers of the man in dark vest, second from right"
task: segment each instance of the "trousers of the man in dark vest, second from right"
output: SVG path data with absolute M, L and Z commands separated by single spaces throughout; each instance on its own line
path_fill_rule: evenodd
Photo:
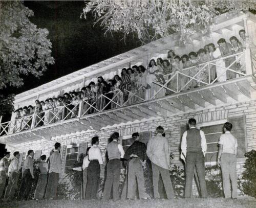
M 206 198 L 207 190 L 205 182 L 204 154 L 201 150 L 197 152 L 187 152 L 185 197 L 191 197 L 195 167 L 198 174 L 201 197 Z

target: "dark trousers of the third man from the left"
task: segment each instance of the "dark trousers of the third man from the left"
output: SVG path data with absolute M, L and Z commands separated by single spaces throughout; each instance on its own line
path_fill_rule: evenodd
M 33 178 L 30 173 L 30 170 L 26 169 L 23 173 L 22 184 L 20 185 L 18 199 L 20 200 L 29 199 L 29 194 L 32 187 L 32 181 L 33 181 Z

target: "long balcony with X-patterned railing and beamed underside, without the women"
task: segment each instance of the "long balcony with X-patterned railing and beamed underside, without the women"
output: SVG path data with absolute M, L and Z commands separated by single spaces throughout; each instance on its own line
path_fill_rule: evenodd
M 235 60 L 227 67 L 218 61 L 227 58 Z M 245 73 L 232 70 L 239 60 L 245 63 Z M 212 80 L 210 76 L 216 67 L 222 73 Z M 194 74 L 191 72 L 195 72 Z M 218 81 L 223 74 L 231 72 L 236 78 Z M 204 74 L 204 79 L 200 74 Z M 154 81 L 150 89 L 138 91 L 117 91 L 110 99 L 108 95 L 97 98 L 84 98 L 69 105 L 62 105 L 40 113 L 0 124 L 0 142 L 19 145 L 38 140 L 51 140 L 52 137 L 87 130 L 100 130 L 107 126 L 135 120 L 166 118 L 175 114 L 201 110 L 208 107 L 245 102 L 255 99 L 255 80 L 252 76 L 250 51 L 233 54 L 218 60 L 185 68 L 175 74 L 165 75 L 165 84 Z M 198 85 L 197 88 L 193 84 Z M 123 101 L 123 93 L 128 100 Z M 167 94 L 167 95 L 166 95 Z M 119 97 L 117 102 L 117 97 Z M 136 102 L 134 102 L 136 101 Z M 104 104 L 103 104 L 104 103 Z M 111 109 L 109 109 L 111 106 Z

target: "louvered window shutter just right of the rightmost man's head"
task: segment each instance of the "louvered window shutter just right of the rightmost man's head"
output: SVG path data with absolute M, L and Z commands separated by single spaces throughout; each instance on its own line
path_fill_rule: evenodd
M 228 118 L 228 122 L 230 122 L 233 127 L 231 133 L 238 140 L 238 158 L 243 158 L 246 152 L 246 130 L 245 130 L 245 117 L 233 117 Z

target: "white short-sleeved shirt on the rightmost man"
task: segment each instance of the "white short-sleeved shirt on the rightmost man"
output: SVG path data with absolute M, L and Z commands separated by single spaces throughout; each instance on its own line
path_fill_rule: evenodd
M 226 131 L 220 136 L 219 144 L 223 145 L 222 153 L 236 154 L 238 141 L 237 138 L 230 133 L 230 131 Z

